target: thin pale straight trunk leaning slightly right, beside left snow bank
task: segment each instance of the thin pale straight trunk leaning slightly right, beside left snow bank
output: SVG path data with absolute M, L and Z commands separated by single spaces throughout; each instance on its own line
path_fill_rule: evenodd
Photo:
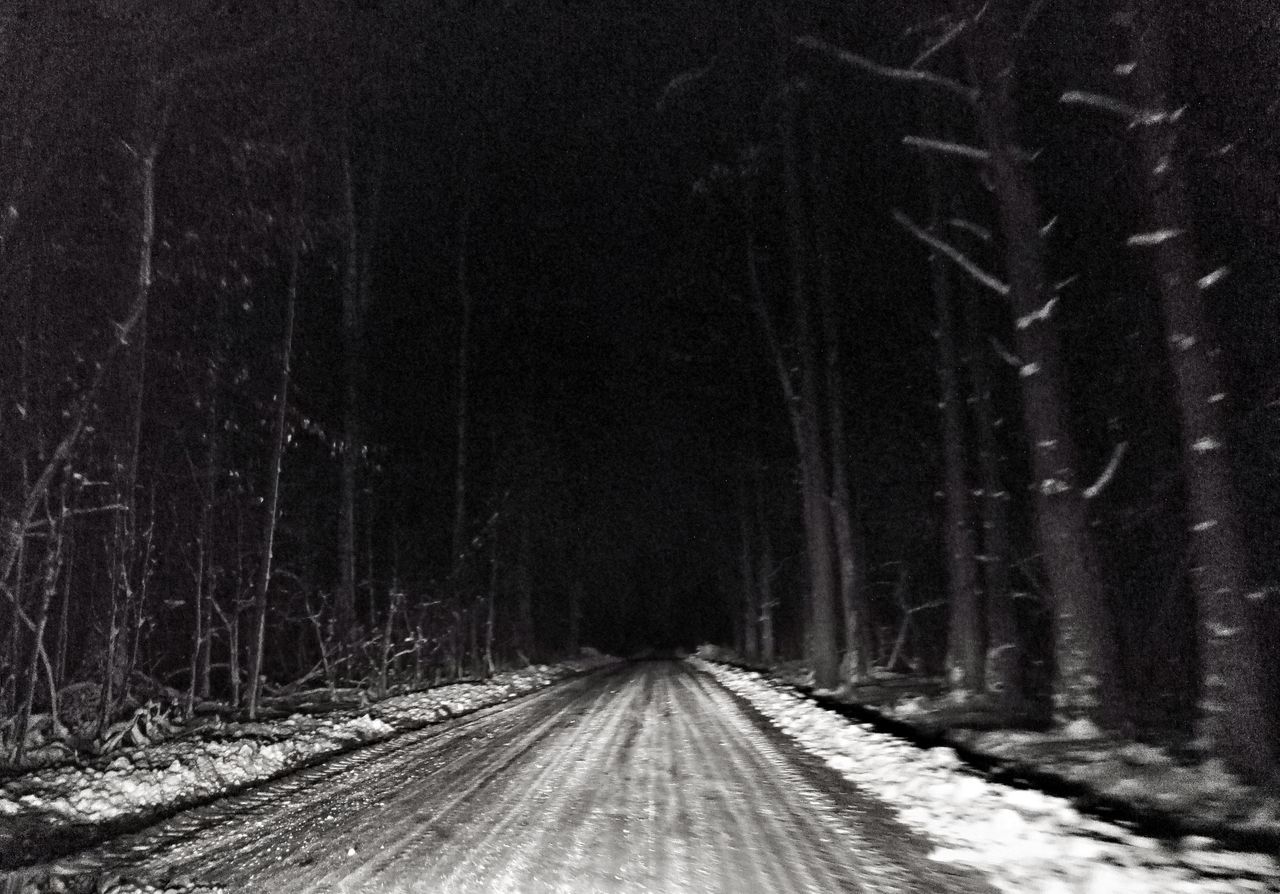
M 248 669 L 248 716 L 257 717 L 262 688 L 262 660 L 266 648 L 266 603 L 271 585 L 271 558 L 275 549 L 275 525 L 280 515 L 280 470 L 284 466 L 284 433 L 289 409 L 289 378 L 293 364 L 293 328 L 298 304 L 298 268 L 302 256 L 302 184 L 301 173 L 293 174 L 293 197 L 289 233 L 288 283 L 285 284 L 284 333 L 280 338 L 280 380 L 271 430 L 271 466 L 266 496 L 266 520 L 262 526 L 262 555 L 253 587 L 253 640 Z

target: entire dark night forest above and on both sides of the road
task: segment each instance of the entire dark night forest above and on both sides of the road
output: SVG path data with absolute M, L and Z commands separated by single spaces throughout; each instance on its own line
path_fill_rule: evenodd
M 1277 28 L 6 0 L 4 760 L 719 640 L 1274 774 Z

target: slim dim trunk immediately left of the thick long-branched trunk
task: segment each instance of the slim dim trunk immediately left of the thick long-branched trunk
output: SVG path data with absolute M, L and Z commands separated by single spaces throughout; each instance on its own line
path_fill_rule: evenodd
M 1023 643 L 1018 631 L 1014 588 L 1010 579 L 1009 491 L 1005 489 L 996 411 L 992 402 L 991 362 L 979 302 L 970 293 L 965 329 L 969 379 L 973 387 L 973 418 L 982 475 L 982 571 L 987 587 L 987 661 L 983 669 L 987 693 L 1004 707 L 1020 704 Z

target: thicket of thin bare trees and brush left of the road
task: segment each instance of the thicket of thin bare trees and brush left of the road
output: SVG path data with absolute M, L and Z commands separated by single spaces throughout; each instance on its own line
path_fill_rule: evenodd
M 29 420 L 3 432 L 6 470 L 13 456 L 19 471 L 14 487 L 6 482 L 0 506 L 3 760 L 23 758 L 37 711 L 92 735 L 140 690 L 177 697 L 188 712 L 216 698 L 255 716 L 271 683 L 279 692 L 321 678 L 332 689 L 356 684 L 385 693 L 397 681 L 424 681 L 442 669 L 489 674 L 499 661 L 529 661 L 540 652 L 532 537 L 539 507 L 522 478 L 529 465 L 515 455 L 495 459 L 494 480 L 506 487 L 495 487 L 484 524 L 466 501 L 470 210 L 457 247 L 463 332 L 448 570 L 435 580 L 417 574 L 412 585 L 403 581 L 398 533 L 374 517 L 371 498 L 361 502 L 375 476 L 361 402 L 385 149 L 376 128 L 361 122 L 380 114 L 376 101 L 372 111 L 362 104 L 379 90 L 374 73 L 381 60 L 362 56 L 367 47 L 356 44 L 360 35 L 372 33 L 375 45 L 383 38 L 376 28 L 364 31 L 366 13 L 357 4 L 315 10 L 283 29 L 265 20 L 252 32 L 260 40 L 219 31 L 223 19 L 202 18 L 197 6 L 104 5 L 86 14 L 87 24 L 60 8 L 32 8 L 0 26 L 0 45 L 22 50 L 9 60 L 14 79 L 0 97 L 6 113 L 15 113 L 0 127 L 9 209 L 0 215 L 0 280 L 4 307 L 22 324 L 17 361 L 4 374 L 5 387 L 14 386 L 6 393 Z M 110 29 L 123 61 L 120 83 L 102 87 L 120 91 L 113 111 L 95 118 L 77 105 L 76 91 L 83 86 L 77 78 L 99 82 L 96 56 L 82 53 L 99 26 Z M 264 63 L 285 38 L 298 70 L 315 79 L 271 81 L 262 90 L 275 105 L 255 104 L 239 69 Z M 335 111 L 321 93 L 340 99 Z M 243 108 L 228 111 L 219 102 Z M 69 164 L 59 152 L 38 151 L 59 138 L 74 142 L 59 136 L 63 113 L 92 120 L 104 131 L 91 140 L 119 147 L 119 158 L 74 172 L 104 184 L 102 214 L 113 223 L 101 229 L 120 231 L 119 245 L 92 247 L 101 257 L 88 254 L 81 245 L 86 237 L 67 220 L 42 219 L 35 210 L 52 195 L 50 183 L 64 173 L 59 165 Z M 206 115 L 209 132 L 192 136 L 204 127 L 196 119 Z M 227 172 L 229 183 L 210 199 L 207 214 L 184 224 L 186 199 L 174 187 L 189 178 L 188 164 Z M 468 192 L 463 207 L 470 202 Z M 84 256 L 59 266 L 64 242 Z M 122 257 L 127 277 L 114 273 L 124 269 Z M 84 313 L 95 316 L 84 330 L 61 329 L 67 319 L 37 293 L 31 275 L 37 264 L 56 275 L 65 275 L 64 268 L 108 270 L 100 275 L 104 293 L 123 300 L 86 302 Z M 338 273 L 332 297 L 340 309 L 334 333 L 340 400 L 333 425 L 300 410 L 292 382 L 297 334 L 316 330 L 307 319 L 308 298 L 329 300 L 319 293 L 326 269 Z M 164 289 L 160 323 L 157 289 Z M 168 316 L 175 295 L 183 301 L 177 324 Z M 250 318 L 255 302 L 278 325 Z M 156 338 L 174 339 L 174 330 L 189 330 L 189 341 L 177 350 L 157 345 Z M 182 366 L 184 348 L 197 360 L 195 374 Z M 63 364 L 61 354 L 76 362 Z M 157 357 L 169 364 L 166 371 L 180 368 L 189 397 L 178 400 L 196 407 L 193 424 L 183 425 L 193 430 L 166 430 L 173 409 L 165 401 L 174 400 L 174 386 L 155 371 Z M 251 369 L 266 393 L 246 386 Z M 189 474 L 161 465 L 159 450 L 150 447 L 156 434 L 184 453 Z M 300 441 L 310 441 L 311 450 L 320 444 L 317 452 L 333 461 L 291 469 L 291 448 L 302 450 Z M 530 455 L 539 448 L 534 438 L 513 441 Z M 302 501 L 287 489 L 291 475 L 306 480 L 315 469 L 326 478 L 315 488 L 326 497 L 319 505 L 337 511 L 308 519 L 307 533 L 325 532 L 330 544 L 335 539 L 332 579 L 329 564 L 297 555 L 307 538 L 292 507 Z M 518 488 L 526 492 L 511 497 Z M 282 556 L 282 543 L 289 555 Z M 183 564 L 188 580 L 174 588 L 173 569 Z M 163 565 L 168 576 L 160 598 L 155 576 Z M 585 562 L 575 565 L 586 573 Z M 582 580 L 573 584 L 575 605 L 584 588 Z M 182 629 L 174 626 L 178 619 Z M 568 637 L 575 648 L 577 637 Z M 186 648 L 174 649 L 175 642 Z M 79 703 L 79 690 L 63 698 L 73 681 L 92 688 L 92 704 Z M 179 681 L 182 690 L 166 681 Z

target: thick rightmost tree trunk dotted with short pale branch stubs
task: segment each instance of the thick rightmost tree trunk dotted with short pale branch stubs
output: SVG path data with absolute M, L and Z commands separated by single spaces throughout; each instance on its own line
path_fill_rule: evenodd
M 1132 12 L 1133 91 L 1143 113 L 1134 132 L 1151 231 L 1132 243 L 1152 254 L 1181 424 L 1199 634 L 1197 734 L 1236 770 L 1262 777 L 1274 770 L 1275 733 L 1268 729 L 1263 694 L 1260 607 L 1251 605 L 1261 592 L 1249 588 L 1249 556 L 1222 420 L 1226 393 L 1199 284 L 1179 123 L 1164 91 L 1165 13 L 1153 0 L 1135 0 Z

